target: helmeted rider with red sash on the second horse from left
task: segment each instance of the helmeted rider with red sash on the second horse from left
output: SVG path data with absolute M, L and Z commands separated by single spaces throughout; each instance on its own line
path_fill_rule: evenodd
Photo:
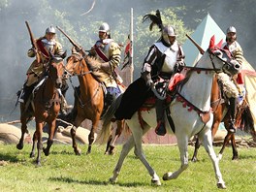
M 114 71 L 121 60 L 121 49 L 111 39 L 111 28 L 107 22 L 103 22 L 99 28 L 99 40 L 91 48 L 89 55 L 95 56 L 101 62 L 101 70 L 108 78 L 104 80 L 107 87 L 106 102 L 110 105 L 112 101 L 121 94 L 118 87 L 118 75 Z

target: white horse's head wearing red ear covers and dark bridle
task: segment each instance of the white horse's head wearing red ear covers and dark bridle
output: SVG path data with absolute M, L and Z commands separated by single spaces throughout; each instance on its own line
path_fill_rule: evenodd
M 227 49 L 221 48 L 222 40 L 215 45 L 215 36 L 213 35 L 209 41 L 208 53 L 213 55 L 211 58 L 211 63 L 214 69 L 216 69 L 215 64 L 219 62 L 222 65 L 221 69 L 216 69 L 217 71 L 222 71 L 228 75 L 234 76 L 240 72 L 240 63 L 232 56 L 231 52 Z

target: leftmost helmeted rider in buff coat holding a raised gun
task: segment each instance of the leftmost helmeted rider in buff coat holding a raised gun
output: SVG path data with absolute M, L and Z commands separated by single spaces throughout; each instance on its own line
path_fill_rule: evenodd
M 49 26 L 46 29 L 45 36 L 35 40 L 38 50 L 35 48 L 30 48 L 27 51 L 27 55 L 29 57 L 35 57 L 36 51 L 38 51 L 40 55 L 40 63 L 38 63 L 37 59 L 35 59 L 27 70 L 27 80 L 19 93 L 19 102 L 26 103 L 28 101 L 33 88 L 44 76 L 44 65 L 48 63 L 50 57 L 49 52 L 51 52 L 53 55 L 59 55 L 62 58 L 66 57 L 66 51 L 64 52 L 61 44 L 55 40 L 55 34 L 55 28 L 53 26 Z M 63 82 L 63 84 L 64 86 L 62 87 L 62 91 L 63 95 L 65 95 L 65 92 L 68 89 L 68 84 L 65 82 Z

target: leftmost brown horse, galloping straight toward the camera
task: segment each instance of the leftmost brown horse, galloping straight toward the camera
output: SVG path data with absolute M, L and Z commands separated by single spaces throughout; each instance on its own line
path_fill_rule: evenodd
M 64 72 L 63 59 L 59 57 L 50 58 L 45 68 L 46 76 L 40 82 L 40 86 L 36 88 L 35 96 L 32 98 L 31 104 L 20 104 L 20 121 L 21 121 L 21 138 L 16 148 L 23 148 L 24 134 L 27 132 L 27 122 L 34 116 L 36 121 L 36 131 L 33 135 L 33 146 L 30 157 L 35 156 L 35 145 L 37 143 L 38 156 L 37 165 L 41 165 L 41 151 L 43 149 L 48 156 L 49 148 L 53 143 L 53 135 L 55 132 L 55 123 L 58 112 L 60 111 L 61 95 L 59 88 L 62 83 Z M 44 123 L 48 123 L 48 145 L 43 148 L 42 134 Z

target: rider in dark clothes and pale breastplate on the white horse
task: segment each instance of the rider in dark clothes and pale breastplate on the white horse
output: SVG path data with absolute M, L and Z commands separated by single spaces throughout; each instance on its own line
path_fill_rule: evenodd
M 144 58 L 142 75 L 149 86 L 155 86 L 157 92 L 166 97 L 169 80 L 179 73 L 184 66 L 184 53 L 176 41 L 176 31 L 171 25 L 162 29 L 161 38 L 149 48 Z M 164 136 L 165 129 L 165 99 L 156 100 L 156 134 Z

